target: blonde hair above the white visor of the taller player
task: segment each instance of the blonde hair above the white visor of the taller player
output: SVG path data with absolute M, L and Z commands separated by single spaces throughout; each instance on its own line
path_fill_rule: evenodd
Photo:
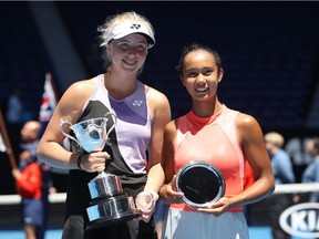
M 114 28 L 121 23 L 126 23 L 126 22 L 134 22 L 134 23 L 143 24 L 145 25 L 145 28 L 148 29 L 150 32 L 153 32 L 154 34 L 153 25 L 145 17 L 137 14 L 134 11 L 123 12 L 120 14 L 114 14 L 114 15 L 109 17 L 102 25 L 97 27 L 97 32 L 101 32 L 100 46 L 105 48 L 109 43 L 107 40 L 110 39 L 110 35 L 112 34 Z

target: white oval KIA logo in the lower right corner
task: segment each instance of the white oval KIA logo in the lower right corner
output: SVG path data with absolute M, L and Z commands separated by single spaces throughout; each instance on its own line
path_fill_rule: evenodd
M 280 227 L 291 236 L 319 238 L 319 204 L 298 204 L 287 208 L 279 217 Z

